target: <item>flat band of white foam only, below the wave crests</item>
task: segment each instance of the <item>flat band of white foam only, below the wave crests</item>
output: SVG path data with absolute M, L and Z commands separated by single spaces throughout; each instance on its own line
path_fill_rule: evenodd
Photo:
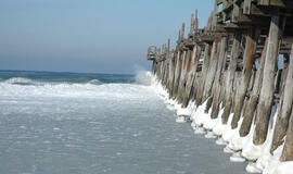
M 102 84 L 92 80 L 87 84 L 42 84 L 42 85 L 18 85 L 13 83 L 0 83 L 0 100 L 17 98 L 36 98 L 38 100 L 46 97 L 62 98 L 139 98 L 139 92 L 151 90 L 149 86 L 137 84 Z

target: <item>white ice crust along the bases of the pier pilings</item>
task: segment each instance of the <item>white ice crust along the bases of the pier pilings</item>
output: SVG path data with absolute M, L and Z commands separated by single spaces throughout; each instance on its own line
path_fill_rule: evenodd
M 239 134 L 240 126 L 243 122 L 241 119 L 238 123 L 238 127 L 232 129 L 231 122 L 233 113 L 229 115 L 227 125 L 222 124 L 221 115 L 224 108 L 220 109 L 218 117 L 215 120 L 211 119 L 212 108 L 208 113 L 205 113 L 207 100 L 196 108 L 194 102 L 190 102 L 187 108 L 182 108 L 178 101 L 169 98 L 168 91 L 161 85 L 161 82 L 156 77 L 152 77 L 152 86 L 154 87 L 157 95 L 164 99 L 167 108 L 173 110 L 178 115 L 176 122 L 186 122 L 186 116 L 190 116 L 192 121 L 191 126 L 194 129 L 194 134 L 206 134 L 206 138 L 215 138 L 217 145 L 227 145 L 224 148 L 224 152 L 232 153 L 230 161 L 243 162 L 245 159 L 250 160 L 246 165 L 249 173 L 262 173 L 263 174 L 292 174 L 293 162 L 280 162 L 280 157 L 283 151 L 283 145 L 278 147 L 273 154 L 270 154 L 269 150 L 272 142 L 273 129 L 277 117 L 277 105 L 272 108 L 272 115 L 269 122 L 269 129 L 267 139 L 263 145 L 255 146 L 253 144 L 253 135 L 255 130 L 254 123 L 251 126 L 250 133 L 245 137 L 241 137 Z M 209 129 L 209 130 L 206 130 Z M 235 152 L 237 151 L 237 152 Z M 244 159 L 245 158 L 245 159 Z M 256 162 L 252 162 L 256 161 Z

